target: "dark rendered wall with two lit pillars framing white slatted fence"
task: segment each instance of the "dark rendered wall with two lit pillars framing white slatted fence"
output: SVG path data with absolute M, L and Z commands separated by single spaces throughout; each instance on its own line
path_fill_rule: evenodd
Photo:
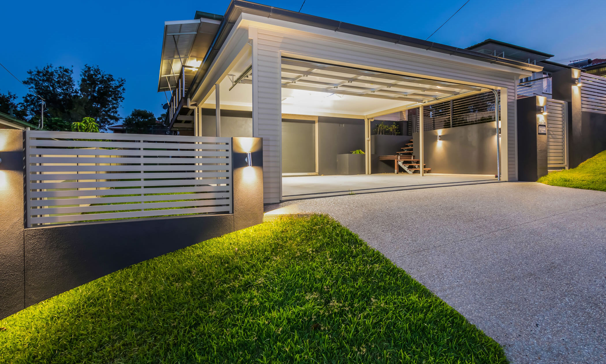
M 0 136 L 4 135 L 2 131 Z M 21 136 L 19 141 L 21 143 Z M 247 152 L 251 152 L 253 166 L 250 167 L 245 161 Z M 9 157 L 8 152 L 0 155 L 3 160 Z M 11 180 L 8 186 L 16 192 L 11 192 L 12 200 L 2 199 L 0 212 L 0 318 L 118 269 L 263 220 L 261 138 L 233 138 L 233 214 L 224 215 L 24 229 L 22 154 L 19 159 L 18 178 Z M 7 166 L 4 161 L 0 165 Z M 15 206 L 15 209 L 5 206 Z

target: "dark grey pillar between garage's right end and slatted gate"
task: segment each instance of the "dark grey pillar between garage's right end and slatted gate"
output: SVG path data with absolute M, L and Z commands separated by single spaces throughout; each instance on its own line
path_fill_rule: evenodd
M 518 99 L 518 180 L 547 174 L 547 126 L 539 124 L 538 96 Z

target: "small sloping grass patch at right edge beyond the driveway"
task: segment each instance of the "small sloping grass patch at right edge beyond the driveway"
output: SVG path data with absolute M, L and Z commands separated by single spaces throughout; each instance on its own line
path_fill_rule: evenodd
M 551 172 L 539 178 L 538 182 L 551 186 L 606 191 L 606 150 L 576 168 Z

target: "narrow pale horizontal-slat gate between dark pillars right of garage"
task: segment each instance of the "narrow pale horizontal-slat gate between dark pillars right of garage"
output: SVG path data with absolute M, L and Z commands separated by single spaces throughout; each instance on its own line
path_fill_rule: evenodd
M 566 167 L 566 120 L 566 104 L 547 99 L 547 167 Z

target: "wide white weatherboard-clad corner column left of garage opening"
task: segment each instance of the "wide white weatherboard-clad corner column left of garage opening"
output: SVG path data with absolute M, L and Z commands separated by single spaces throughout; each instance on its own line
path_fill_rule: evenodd
M 279 42 L 250 27 L 253 64 L 253 136 L 263 138 L 264 203 L 282 199 L 282 73 Z

